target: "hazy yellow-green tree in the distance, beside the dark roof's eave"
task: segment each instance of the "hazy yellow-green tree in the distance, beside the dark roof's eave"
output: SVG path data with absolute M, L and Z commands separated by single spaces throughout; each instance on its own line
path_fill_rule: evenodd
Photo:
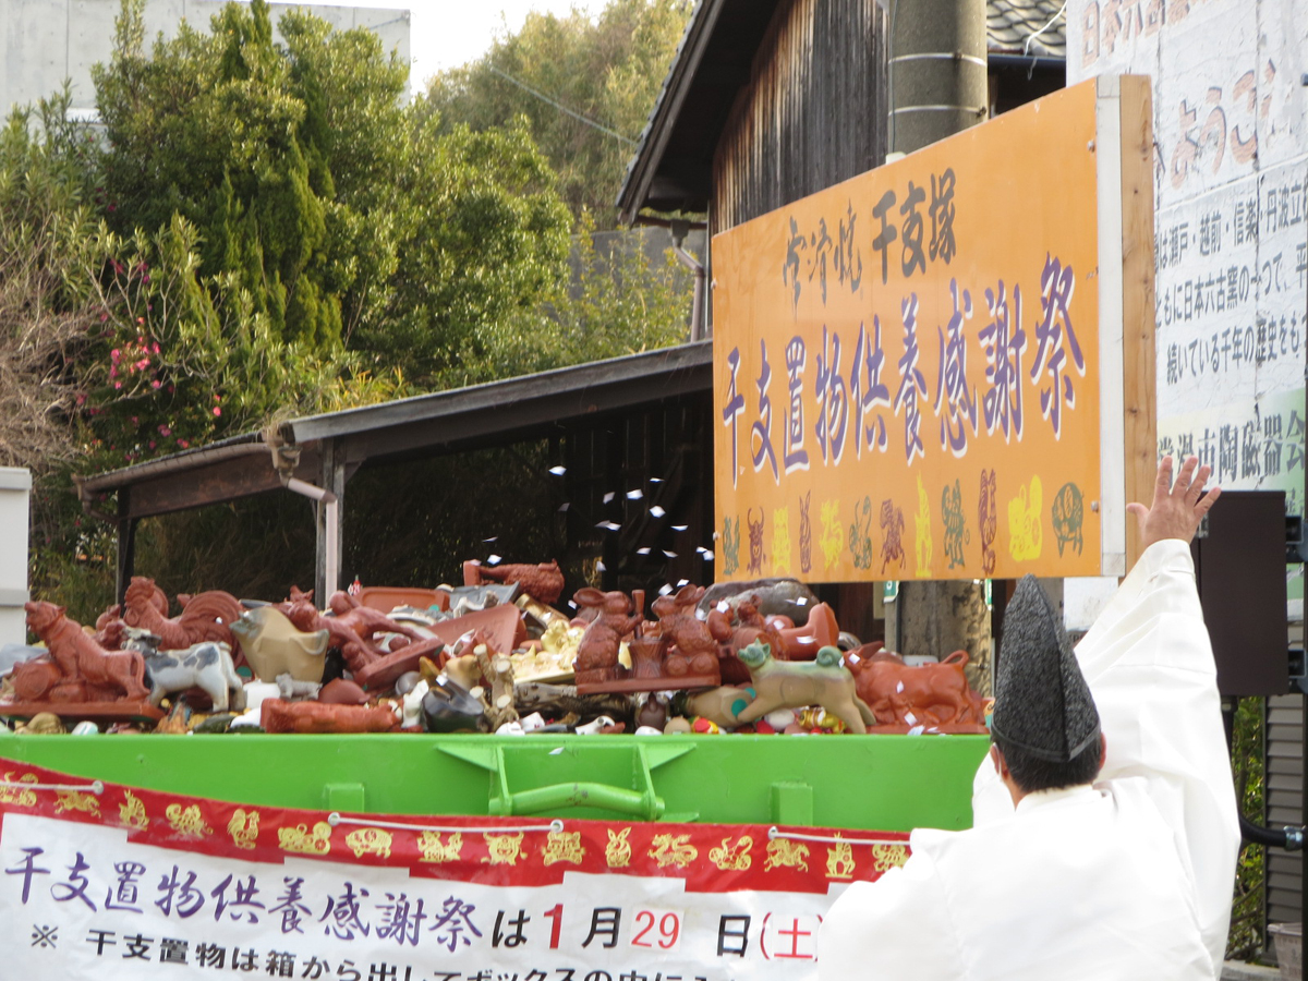
M 587 208 L 599 228 L 612 228 L 627 164 L 691 8 L 687 0 L 611 0 L 595 20 L 578 10 L 531 13 L 476 61 L 436 75 L 425 109 L 447 128 L 485 129 L 525 115 L 573 213 Z

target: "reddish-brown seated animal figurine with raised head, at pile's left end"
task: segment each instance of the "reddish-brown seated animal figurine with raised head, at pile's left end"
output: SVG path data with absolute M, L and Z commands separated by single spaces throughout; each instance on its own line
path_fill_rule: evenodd
M 27 628 L 44 642 L 58 666 L 58 676 L 50 679 L 54 681 L 48 691 L 51 701 L 144 700 L 149 695 L 145 661 L 139 651 L 105 650 L 54 603 L 29 602 L 24 610 L 27 611 Z M 26 662 L 14 670 L 16 691 L 20 691 L 20 668 L 37 668 L 38 664 L 42 662 Z

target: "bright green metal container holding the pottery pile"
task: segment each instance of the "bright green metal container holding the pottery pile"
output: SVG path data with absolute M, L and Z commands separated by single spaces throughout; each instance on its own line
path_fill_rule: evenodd
M 960 829 L 989 739 L 0 735 L 7 761 L 266 807 Z

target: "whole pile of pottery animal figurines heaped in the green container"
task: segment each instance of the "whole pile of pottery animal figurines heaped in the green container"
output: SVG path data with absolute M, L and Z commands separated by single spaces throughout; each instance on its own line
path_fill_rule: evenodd
M 0 717 L 54 732 L 985 732 L 955 651 L 908 666 L 842 634 L 790 579 L 586 587 L 557 564 L 464 564 L 464 585 L 356 589 L 319 610 L 136 577 L 94 629 L 26 604 L 41 646 L 0 653 Z M 396 600 L 400 600 L 396 603 Z

